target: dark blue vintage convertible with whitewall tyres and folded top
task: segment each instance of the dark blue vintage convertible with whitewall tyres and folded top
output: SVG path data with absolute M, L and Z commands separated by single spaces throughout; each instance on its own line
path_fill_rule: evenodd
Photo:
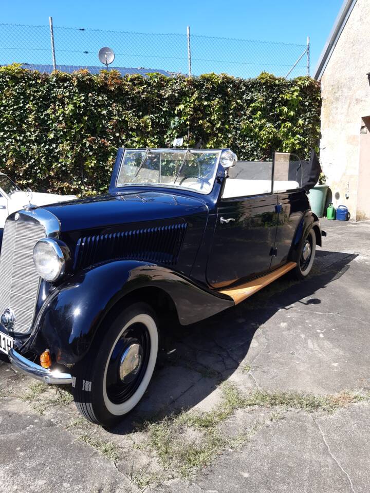
M 120 148 L 107 195 L 8 217 L 0 349 L 113 425 L 146 391 L 169 315 L 193 324 L 289 271 L 308 275 L 322 234 L 305 166 L 284 153 Z

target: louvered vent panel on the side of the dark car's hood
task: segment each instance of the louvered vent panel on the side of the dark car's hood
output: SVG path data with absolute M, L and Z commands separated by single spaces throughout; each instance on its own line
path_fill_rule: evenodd
M 113 259 L 175 264 L 186 228 L 187 223 L 180 223 L 82 237 L 77 242 L 75 268 Z

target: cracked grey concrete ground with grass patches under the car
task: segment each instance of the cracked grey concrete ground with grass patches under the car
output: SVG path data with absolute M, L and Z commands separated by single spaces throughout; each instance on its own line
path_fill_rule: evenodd
M 322 226 L 308 279 L 176 328 L 115 429 L 0 360 L 0 491 L 370 491 L 370 222 Z

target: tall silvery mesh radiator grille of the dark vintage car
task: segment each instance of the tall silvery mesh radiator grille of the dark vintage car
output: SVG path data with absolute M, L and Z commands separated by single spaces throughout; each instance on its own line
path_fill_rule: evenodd
M 32 253 L 34 245 L 44 237 L 41 224 L 5 223 L 0 258 L 0 315 L 6 308 L 13 310 L 14 332 L 28 332 L 32 324 L 40 281 Z

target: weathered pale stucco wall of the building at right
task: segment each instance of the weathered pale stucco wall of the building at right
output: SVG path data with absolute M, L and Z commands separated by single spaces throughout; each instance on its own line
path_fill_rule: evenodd
M 334 205 L 346 205 L 353 219 L 370 212 L 370 183 L 368 208 L 358 204 L 359 179 L 368 179 L 368 174 L 359 177 L 359 169 L 362 118 L 370 116 L 369 71 L 370 0 L 358 0 L 321 78 L 321 166 Z M 361 154 L 366 169 L 370 154 Z

